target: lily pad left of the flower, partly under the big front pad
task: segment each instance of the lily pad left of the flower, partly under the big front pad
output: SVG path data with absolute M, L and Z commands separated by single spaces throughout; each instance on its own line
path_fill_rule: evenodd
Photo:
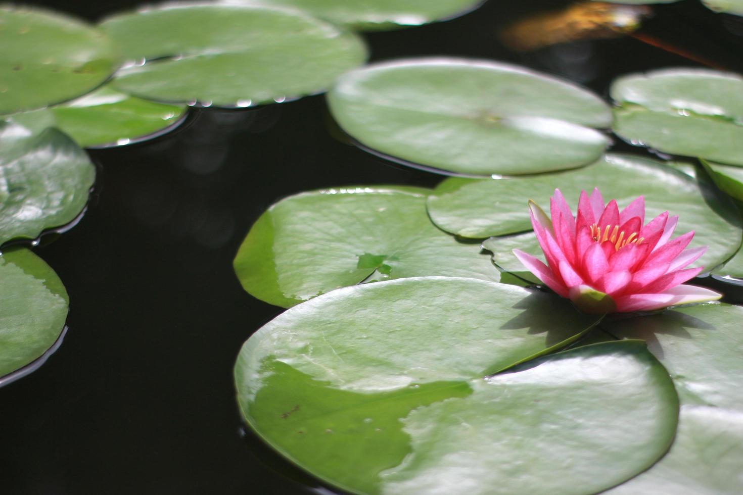
M 250 229 L 235 258 L 237 276 L 256 298 L 285 307 L 363 281 L 498 281 L 479 243 L 459 242 L 429 221 L 429 191 L 360 186 L 288 197 Z

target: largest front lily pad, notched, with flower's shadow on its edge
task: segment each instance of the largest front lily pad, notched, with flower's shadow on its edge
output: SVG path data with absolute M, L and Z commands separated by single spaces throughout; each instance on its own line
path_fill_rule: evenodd
M 499 283 L 346 287 L 248 339 L 239 403 L 279 453 L 353 493 L 596 493 L 652 465 L 675 432 L 678 398 L 644 345 L 483 379 L 590 326 L 565 300 Z

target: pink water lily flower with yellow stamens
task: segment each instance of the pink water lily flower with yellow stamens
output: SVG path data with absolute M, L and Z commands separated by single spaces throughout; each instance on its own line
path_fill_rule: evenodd
M 671 239 L 678 216 L 663 212 L 645 224 L 640 196 L 621 212 L 604 206 L 598 189 L 580 193 L 577 218 L 559 189 L 550 198 L 552 219 L 529 201 L 531 224 L 547 264 L 514 249 L 530 272 L 584 312 L 594 314 L 661 309 L 713 301 L 720 294 L 683 285 L 701 272 L 687 268 L 707 246 L 686 249 L 694 232 Z

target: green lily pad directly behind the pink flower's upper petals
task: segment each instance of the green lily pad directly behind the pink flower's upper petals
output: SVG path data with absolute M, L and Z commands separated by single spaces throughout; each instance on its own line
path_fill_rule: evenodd
M 677 232 L 694 230 L 694 244 L 709 246 L 700 258 L 709 269 L 741 246 L 740 213 L 730 198 L 701 178 L 632 155 L 608 154 L 592 165 L 558 174 L 447 179 L 429 196 L 427 207 L 432 221 L 447 232 L 464 237 L 499 236 L 531 230 L 529 199 L 549 211 L 549 198 L 558 188 L 575 212 L 580 191 L 590 192 L 594 187 L 606 201 L 616 199 L 620 207 L 644 195 L 647 220 L 666 210 L 678 214 Z

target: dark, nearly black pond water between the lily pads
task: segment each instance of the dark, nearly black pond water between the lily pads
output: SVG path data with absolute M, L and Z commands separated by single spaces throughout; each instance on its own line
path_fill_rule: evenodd
M 33 3 L 94 20 L 138 2 Z M 568 3 L 491 0 L 452 22 L 366 39 L 372 59 L 499 59 L 600 94 L 623 73 L 699 65 L 629 37 L 528 55 L 499 45 L 499 27 Z M 743 33 L 743 18 L 717 16 L 697 0 L 655 11 L 641 33 L 743 71 L 743 37 L 735 34 Z M 194 111 L 173 134 L 91 152 L 100 168 L 87 214 L 37 249 L 71 295 L 70 330 L 44 366 L 0 389 L 1 493 L 326 490 L 241 426 L 233 362 L 243 341 L 280 309 L 243 292 L 233 255 L 259 214 L 288 194 L 441 180 L 336 137 L 322 96 L 314 96 L 253 111 Z

